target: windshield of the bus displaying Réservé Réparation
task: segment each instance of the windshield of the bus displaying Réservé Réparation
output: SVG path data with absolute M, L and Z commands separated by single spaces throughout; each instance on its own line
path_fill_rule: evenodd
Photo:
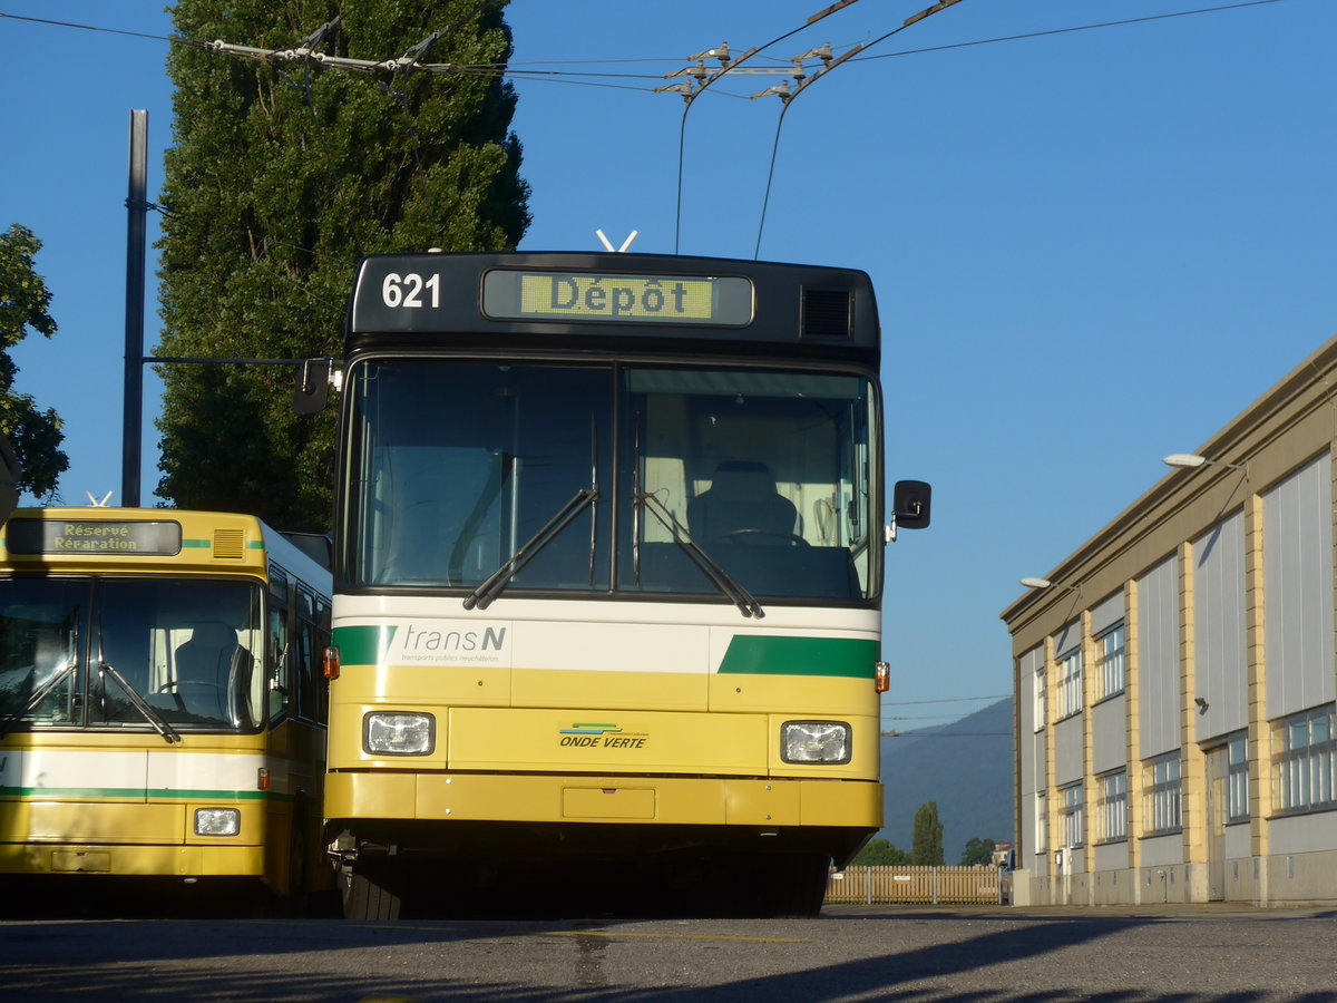
M 259 610 L 258 583 L 0 580 L 0 732 L 254 730 Z

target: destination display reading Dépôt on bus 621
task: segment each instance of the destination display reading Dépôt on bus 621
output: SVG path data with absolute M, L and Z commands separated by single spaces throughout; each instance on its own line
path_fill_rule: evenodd
M 483 278 L 483 312 L 507 320 L 575 320 L 738 328 L 751 322 L 751 282 L 739 277 L 512 271 Z

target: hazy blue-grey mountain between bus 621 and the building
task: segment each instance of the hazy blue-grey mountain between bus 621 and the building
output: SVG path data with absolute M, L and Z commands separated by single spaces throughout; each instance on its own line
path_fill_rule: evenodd
M 882 738 L 886 808 L 878 839 L 909 851 L 915 812 L 937 801 L 943 856 L 956 864 L 972 839 L 1015 843 L 1012 833 L 1012 699 L 910 736 Z

